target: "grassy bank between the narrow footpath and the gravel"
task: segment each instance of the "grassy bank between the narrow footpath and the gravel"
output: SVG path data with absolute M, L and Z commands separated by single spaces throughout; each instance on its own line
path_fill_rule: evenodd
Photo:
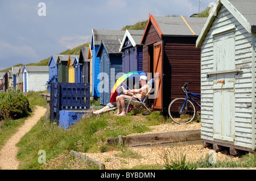
M 147 125 L 151 123 L 147 119 L 137 123 L 134 118 L 136 117 L 112 116 L 111 112 L 98 118 L 91 115 L 64 130 L 42 117 L 18 144 L 18 159 L 21 163 L 19 169 L 40 169 L 42 164 L 38 163 L 39 150 L 45 150 L 46 158 L 50 161 L 65 151 L 96 153 L 116 149 L 117 146 L 106 144 L 106 138 L 150 130 Z

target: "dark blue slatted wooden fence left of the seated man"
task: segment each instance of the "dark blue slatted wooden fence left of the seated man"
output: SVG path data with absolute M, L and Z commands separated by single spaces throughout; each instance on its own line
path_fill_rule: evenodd
M 85 111 L 90 108 L 90 85 L 51 83 L 51 123 L 59 125 L 61 110 Z

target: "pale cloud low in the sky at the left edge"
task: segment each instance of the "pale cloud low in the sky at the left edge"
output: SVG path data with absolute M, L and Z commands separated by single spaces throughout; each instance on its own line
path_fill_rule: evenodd
M 27 45 L 12 45 L 0 39 L 0 54 L 1 59 L 10 56 L 26 57 L 26 58 L 38 58 L 34 48 Z

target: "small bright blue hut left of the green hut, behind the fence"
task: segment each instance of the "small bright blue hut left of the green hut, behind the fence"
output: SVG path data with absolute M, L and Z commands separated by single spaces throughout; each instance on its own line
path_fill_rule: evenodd
M 47 81 L 47 90 L 51 92 L 51 82 L 58 82 L 58 55 L 53 54 L 48 62 L 49 67 L 49 80 Z

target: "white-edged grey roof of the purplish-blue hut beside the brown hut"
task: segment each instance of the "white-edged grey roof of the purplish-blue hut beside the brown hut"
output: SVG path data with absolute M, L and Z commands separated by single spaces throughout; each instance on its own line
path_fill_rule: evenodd
M 131 44 L 133 44 L 133 47 L 136 45 L 141 44 L 141 39 L 143 36 L 144 30 L 126 30 L 125 35 L 123 36 L 123 40 L 121 43 L 121 46 L 119 47 L 119 52 L 122 51 L 123 46 L 125 45 L 126 38 L 128 37 L 131 41 Z

